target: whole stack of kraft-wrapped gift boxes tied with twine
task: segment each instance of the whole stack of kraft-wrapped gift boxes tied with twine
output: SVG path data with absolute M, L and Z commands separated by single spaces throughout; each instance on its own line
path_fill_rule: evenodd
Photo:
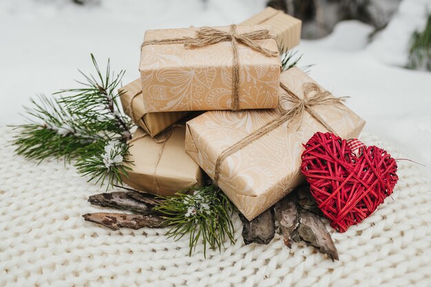
M 124 181 L 169 196 L 207 174 L 252 220 L 302 183 L 302 143 L 315 132 L 357 137 L 365 122 L 341 103 L 289 114 L 328 94 L 300 69 L 281 71 L 279 47 L 300 32 L 301 21 L 272 8 L 239 25 L 145 32 L 140 78 L 120 89 L 139 126 Z

